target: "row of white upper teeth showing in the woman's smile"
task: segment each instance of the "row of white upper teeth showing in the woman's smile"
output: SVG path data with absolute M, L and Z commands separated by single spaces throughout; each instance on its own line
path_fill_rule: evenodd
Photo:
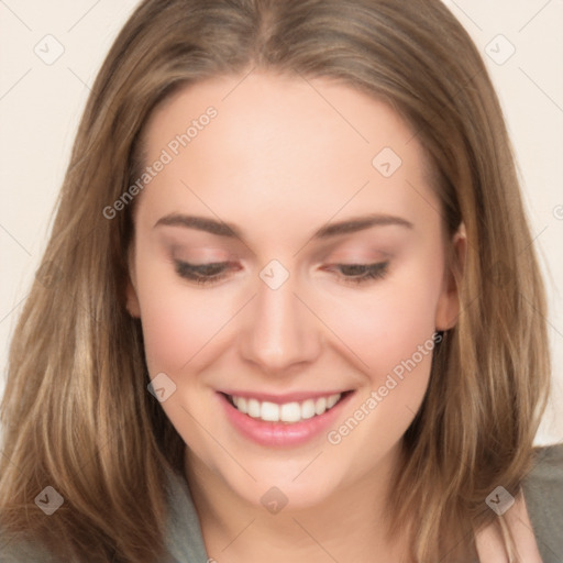
M 245 397 L 231 397 L 238 410 L 252 418 L 260 418 L 267 422 L 299 422 L 314 416 L 322 415 L 342 397 L 341 393 L 318 399 L 307 399 L 302 402 L 286 402 L 277 405 L 275 402 L 257 399 L 247 399 Z

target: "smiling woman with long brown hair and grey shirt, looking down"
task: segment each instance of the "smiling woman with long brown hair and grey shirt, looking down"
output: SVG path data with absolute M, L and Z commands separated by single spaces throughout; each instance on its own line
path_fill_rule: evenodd
M 532 449 L 543 286 L 439 1 L 142 2 L 40 272 L 2 404 L 9 561 L 561 554 L 533 509 L 562 481 Z

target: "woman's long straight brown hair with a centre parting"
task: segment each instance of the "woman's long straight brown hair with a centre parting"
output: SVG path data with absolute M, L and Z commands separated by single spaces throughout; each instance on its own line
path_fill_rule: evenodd
M 162 556 L 164 470 L 181 471 L 185 444 L 146 390 L 141 325 L 125 310 L 134 201 L 112 219 L 103 209 L 135 181 L 158 103 L 253 69 L 328 77 L 389 103 L 428 154 L 449 234 L 465 225 L 461 312 L 434 351 L 389 507 L 391 526 L 411 523 L 417 561 L 439 561 L 446 534 L 497 518 L 484 503 L 497 484 L 519 489 L 550 373 L 544 289 L 501 110 L 440 0 L 141 2 L 93 85 L 11 343 L 0 523 L 76 561 Z M 51 518 L 34 504 L 46 486 L 65 499 Z

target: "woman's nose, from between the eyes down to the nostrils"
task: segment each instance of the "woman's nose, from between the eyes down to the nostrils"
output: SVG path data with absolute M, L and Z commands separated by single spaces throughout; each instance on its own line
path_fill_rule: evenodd
M 296 292 L 291 276 L 277 289 L 258 280 L 257 295 L 245 311 L 240 353 L 264 373 L 302 368 L 321 352 L 320 322 Z

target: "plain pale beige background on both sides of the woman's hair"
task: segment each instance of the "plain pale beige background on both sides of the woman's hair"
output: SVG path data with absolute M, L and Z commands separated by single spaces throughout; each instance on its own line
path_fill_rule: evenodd
M 550 296 L 554 389 L 538 443 L 563 441 L 563 1 L 444 1 L 483 53 L 516 146 Z M 78 119 L 136 3 L 0 0 L 0 394 Z

